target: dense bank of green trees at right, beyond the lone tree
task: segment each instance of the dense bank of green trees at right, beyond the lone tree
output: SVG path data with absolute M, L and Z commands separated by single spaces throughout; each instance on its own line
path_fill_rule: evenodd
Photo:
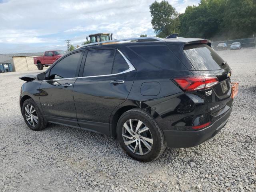
M 201 0 L 179 15 L 180 36 L 246 38 L 256 32 L 256 0 Z

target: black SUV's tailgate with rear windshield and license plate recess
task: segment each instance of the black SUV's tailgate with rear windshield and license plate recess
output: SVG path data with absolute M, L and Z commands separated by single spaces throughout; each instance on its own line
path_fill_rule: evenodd
M 184 46 L 184 54 L 192 64 L 195 75 L 216 76 L 219 83 L 205 90 L 210 113 L 220 110 L 230 101 L 231 83 L 230 67 L 207 44 L 188 44 Z

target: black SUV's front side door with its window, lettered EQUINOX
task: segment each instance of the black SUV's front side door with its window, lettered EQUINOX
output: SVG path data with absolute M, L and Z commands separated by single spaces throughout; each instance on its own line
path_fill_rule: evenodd
M 49 122 L 78 126 L 73 88 L 84 52 L 76 52 L 59 60 L 46 73 L 40 86 L 40 102 Z

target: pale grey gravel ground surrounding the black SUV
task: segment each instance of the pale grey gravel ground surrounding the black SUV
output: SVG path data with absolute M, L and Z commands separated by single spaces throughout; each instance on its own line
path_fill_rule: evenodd
M 21 73 L 0 74 L 0 191 L 256 191 L 256 49 L 218 54 L 239 82 L 229 122 L 200 146 L 167 148 L 150 163 L 101 134 L 30 130 L 18 106 Z

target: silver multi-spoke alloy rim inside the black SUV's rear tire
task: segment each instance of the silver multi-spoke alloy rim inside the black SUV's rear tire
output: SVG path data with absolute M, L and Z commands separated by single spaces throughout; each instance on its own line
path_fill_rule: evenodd
M 127 120 L 122 128 L 122 137 L 124 144 L 135 154 L 145 155 L 152 149 L 152 134 L 148 126 L 140 120 Z

